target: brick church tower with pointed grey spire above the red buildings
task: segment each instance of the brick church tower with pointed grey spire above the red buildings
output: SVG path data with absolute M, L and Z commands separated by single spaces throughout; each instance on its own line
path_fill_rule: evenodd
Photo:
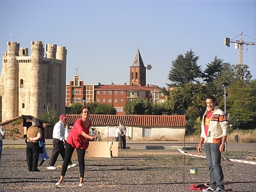
M 146 85 L 146 67 L 140 55 L 139 49 L 130 67 L 130 85 L 145 86 Z

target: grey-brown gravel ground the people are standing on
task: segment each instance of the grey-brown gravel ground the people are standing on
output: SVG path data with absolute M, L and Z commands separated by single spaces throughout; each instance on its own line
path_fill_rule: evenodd
M 51 155 L 52 150 L 47 148 Z M 196 151 L 189 153 L 197 154 Z M 223 157 L 246 160 L 255 152 L 227 151 Z M 253 160 L 250 160 L 253 161 Z M 77 163 L 77 159 L 72 159 Z M 119 150 L 118 157 L 86 158 L 85 181 L 78 187 L 79 166 L 67 171 L 63 185 L 55 187 L 61 174 L 47 170 L 48 161 L 38 166 L 41 172 L 28 172 L 24 148 L 4 148 L 0 166 L 0 191 L 190 191 L 191 184 L 209 182 L 205 159 L 184 156 L 177 150 Z M 228 191 L 256 191 L 256 165 L 222 162 Z M 198 173 L 191 174 L 191 168 Z

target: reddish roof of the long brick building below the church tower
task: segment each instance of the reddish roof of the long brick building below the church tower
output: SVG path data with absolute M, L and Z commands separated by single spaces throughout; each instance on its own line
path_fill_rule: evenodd
M 146 90 L 154 91 L 161 90 L 156 86 L 136 86 L 136 85 L 122 85 L 122 84 L 101 84 L 95 85 L 95 90 Z

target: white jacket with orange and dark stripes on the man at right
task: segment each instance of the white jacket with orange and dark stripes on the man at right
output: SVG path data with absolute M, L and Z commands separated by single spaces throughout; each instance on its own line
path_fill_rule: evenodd
M 227 115 L 221 109 L 219 109 L 219 106 L 215 106 L 209 122 L 208 132 L 205 134 L 204 127 L 205 117 L 207 114 L 208 113 L 206 110 L 202 120 L 202 132 L 200 137 L 204 138 L 204 143 L 221 143 L 222 136 L 227 136 L 228 134 Z

